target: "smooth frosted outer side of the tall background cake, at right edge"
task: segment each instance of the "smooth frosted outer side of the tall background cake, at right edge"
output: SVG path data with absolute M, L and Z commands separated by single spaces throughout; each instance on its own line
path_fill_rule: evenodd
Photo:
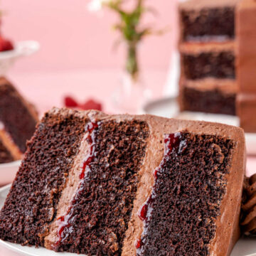
M 240 127 L 256 132 L 256 1 L 242 0 L 237 9 Z

